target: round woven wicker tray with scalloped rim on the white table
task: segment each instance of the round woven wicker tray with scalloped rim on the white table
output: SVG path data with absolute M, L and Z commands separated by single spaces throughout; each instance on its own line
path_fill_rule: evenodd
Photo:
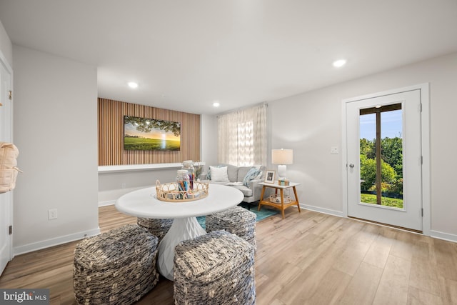
M 180 191 L 178 184 L 171 182 L 161 184 L 156 180 L 157 199 L 169 202 L 186 202 L 205 198 L 208 196 L 208 183 L 194 181 L 194 189 L 189 191 Z

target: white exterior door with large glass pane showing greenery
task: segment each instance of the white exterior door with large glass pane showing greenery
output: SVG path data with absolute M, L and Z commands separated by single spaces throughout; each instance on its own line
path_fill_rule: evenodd
M 346 141 L 348 216 L 422 231 L 421 91 L 346 101 Z

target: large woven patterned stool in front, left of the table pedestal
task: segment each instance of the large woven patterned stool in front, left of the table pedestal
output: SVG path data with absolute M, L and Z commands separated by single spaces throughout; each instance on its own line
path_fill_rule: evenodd
M 128 224 L 84 239 L 74 251 L 77 304 L 132 304 L 156 286 L 157 237 Z

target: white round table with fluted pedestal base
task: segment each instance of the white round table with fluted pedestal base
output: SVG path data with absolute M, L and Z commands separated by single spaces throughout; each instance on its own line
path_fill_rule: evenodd
M 116 209 L 124 214 L 153 219 L 174 219 L 171 228 L 159 244 L 157 268 L 173 281 L 174 248 L 180 241 L 206 234 L 196 216 L 225 211 L 243 201 L 243 193 L 231 186 L 210 184 L 208 196 L 186 202 L 161 201 L 156 187 L 131 191 L 116 201 Z

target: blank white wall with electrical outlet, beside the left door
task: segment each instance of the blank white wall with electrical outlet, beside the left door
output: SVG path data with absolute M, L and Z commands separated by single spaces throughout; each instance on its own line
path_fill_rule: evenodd
M 99 233 L 96 67 L 13 46 L 14 253 Z M 58 219 L 48 220 L 57 209 Z

